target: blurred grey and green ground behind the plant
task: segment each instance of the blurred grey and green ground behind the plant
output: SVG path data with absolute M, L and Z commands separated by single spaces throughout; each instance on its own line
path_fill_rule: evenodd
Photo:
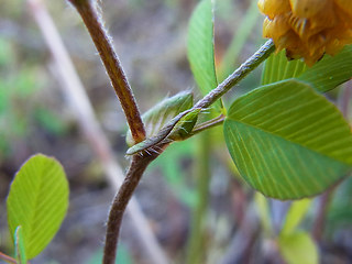
M 141 112 L 183 90 L 200 98 L 186 47 L 197 2 L 102 1 L 106 26 Z M 81 19 L 65 0 L 38 4 L 47 4 L 114 161 L 124 172 L 129 164 L 125 119 Z M 217 1 L 219 80 L 264 42 L 263 16 L 255 6 L 253 0 Z M 96 264 L 101 262 L 106 218 L 117 186 L 107 177 L 97 146 L 81 130 L 69 94 L 63 90 L 59 70 L 34 19 L 36 8 L 24 0 L 2 0 L 0 9 L 0 251 L 13 252 L 6 216 L 11 180 L 24 161 L 44 153 L 63 164 L 70 206 L 57 235 L 32 263 Z M 261 68 L 227 96 L 226 105 L 260 81 Z M 343 89 L 329 98 L 339 102 Z M 169 263 L 285 263 L 276 238 L 290 202 L 267 199 L 268 216 L 257 213 L 263 198 L 254 199 L 254 191 L 238 176 L 221 129 L 208 136 L 210 151 L 202 162 L 201 139 L 195 136 L 170 145 L 148 167 L 135 194 L 148 223 L 142 229 L 151 229 Z M 201 178 L 198 165 L 205 161 L 208 172 Z M 314 199 L 300 228 L 316 238 L 321 263 L 352 263 L 351 206 L 351 179 Z M 154 263 L 130 218 L 125 216 L 122 227 L 119 263 Z

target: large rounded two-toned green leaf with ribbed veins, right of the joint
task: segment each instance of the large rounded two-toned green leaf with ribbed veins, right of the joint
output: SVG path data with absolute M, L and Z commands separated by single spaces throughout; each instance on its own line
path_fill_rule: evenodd
M 228 113 L 229 152 L 242 177 L 266 196 L 314 196 L 351 170 L 349 124 L 306 84 L 261 87 L 235 100 Z

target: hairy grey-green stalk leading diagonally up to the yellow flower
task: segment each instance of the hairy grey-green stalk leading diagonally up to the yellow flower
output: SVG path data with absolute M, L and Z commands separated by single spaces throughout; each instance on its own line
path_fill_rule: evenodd
M 263 63 L 273 52 L 275 46 L 272 40 L 267 41 L 258 51 L 256 51 L 248 61 L 245 61 L 237 70 L 226 78 L 217 88 L 199 100 L 194 109 L 208 108 L 216 100 L 227 94 L 234 85 L 242 80 L 249 73 Z

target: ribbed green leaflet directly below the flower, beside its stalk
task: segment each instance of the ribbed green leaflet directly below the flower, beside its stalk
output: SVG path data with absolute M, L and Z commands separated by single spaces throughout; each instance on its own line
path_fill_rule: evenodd
M 298 77 L 307 69 L 299 59 L 288 61 L 285 51 L 272 54 L 265 62 L 262 85 L 270 85 L 279 80 Z

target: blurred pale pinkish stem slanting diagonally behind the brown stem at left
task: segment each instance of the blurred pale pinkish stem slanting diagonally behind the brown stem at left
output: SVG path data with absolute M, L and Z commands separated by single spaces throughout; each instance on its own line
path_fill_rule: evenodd
M 111 148 L 107 135 L 98 122 L 91 102 L 86 94 L 77 70 L 68 55 L 65 45 L 58 34 L 53 19 L 42 0 L 28 0 L 30 11 L 35 19 L 52 52 L 55 63 L 55 75 L 61 82 L 61 89 L 68 99 L 68 107 L 75 113 L 76 120 L 87 138 L 87 142 L 95 151 L 97 158 L 105 170 L 105 175 L 113 190 L 118 190 L 123 182 L 124 174 Z M 131 224 L 143 251 L 146 252 L 154 264 L 168 263 L 163 249 L 157 242 L 153 230 L 148 226 L 138 201 L 132 197 L 127 208 Z

